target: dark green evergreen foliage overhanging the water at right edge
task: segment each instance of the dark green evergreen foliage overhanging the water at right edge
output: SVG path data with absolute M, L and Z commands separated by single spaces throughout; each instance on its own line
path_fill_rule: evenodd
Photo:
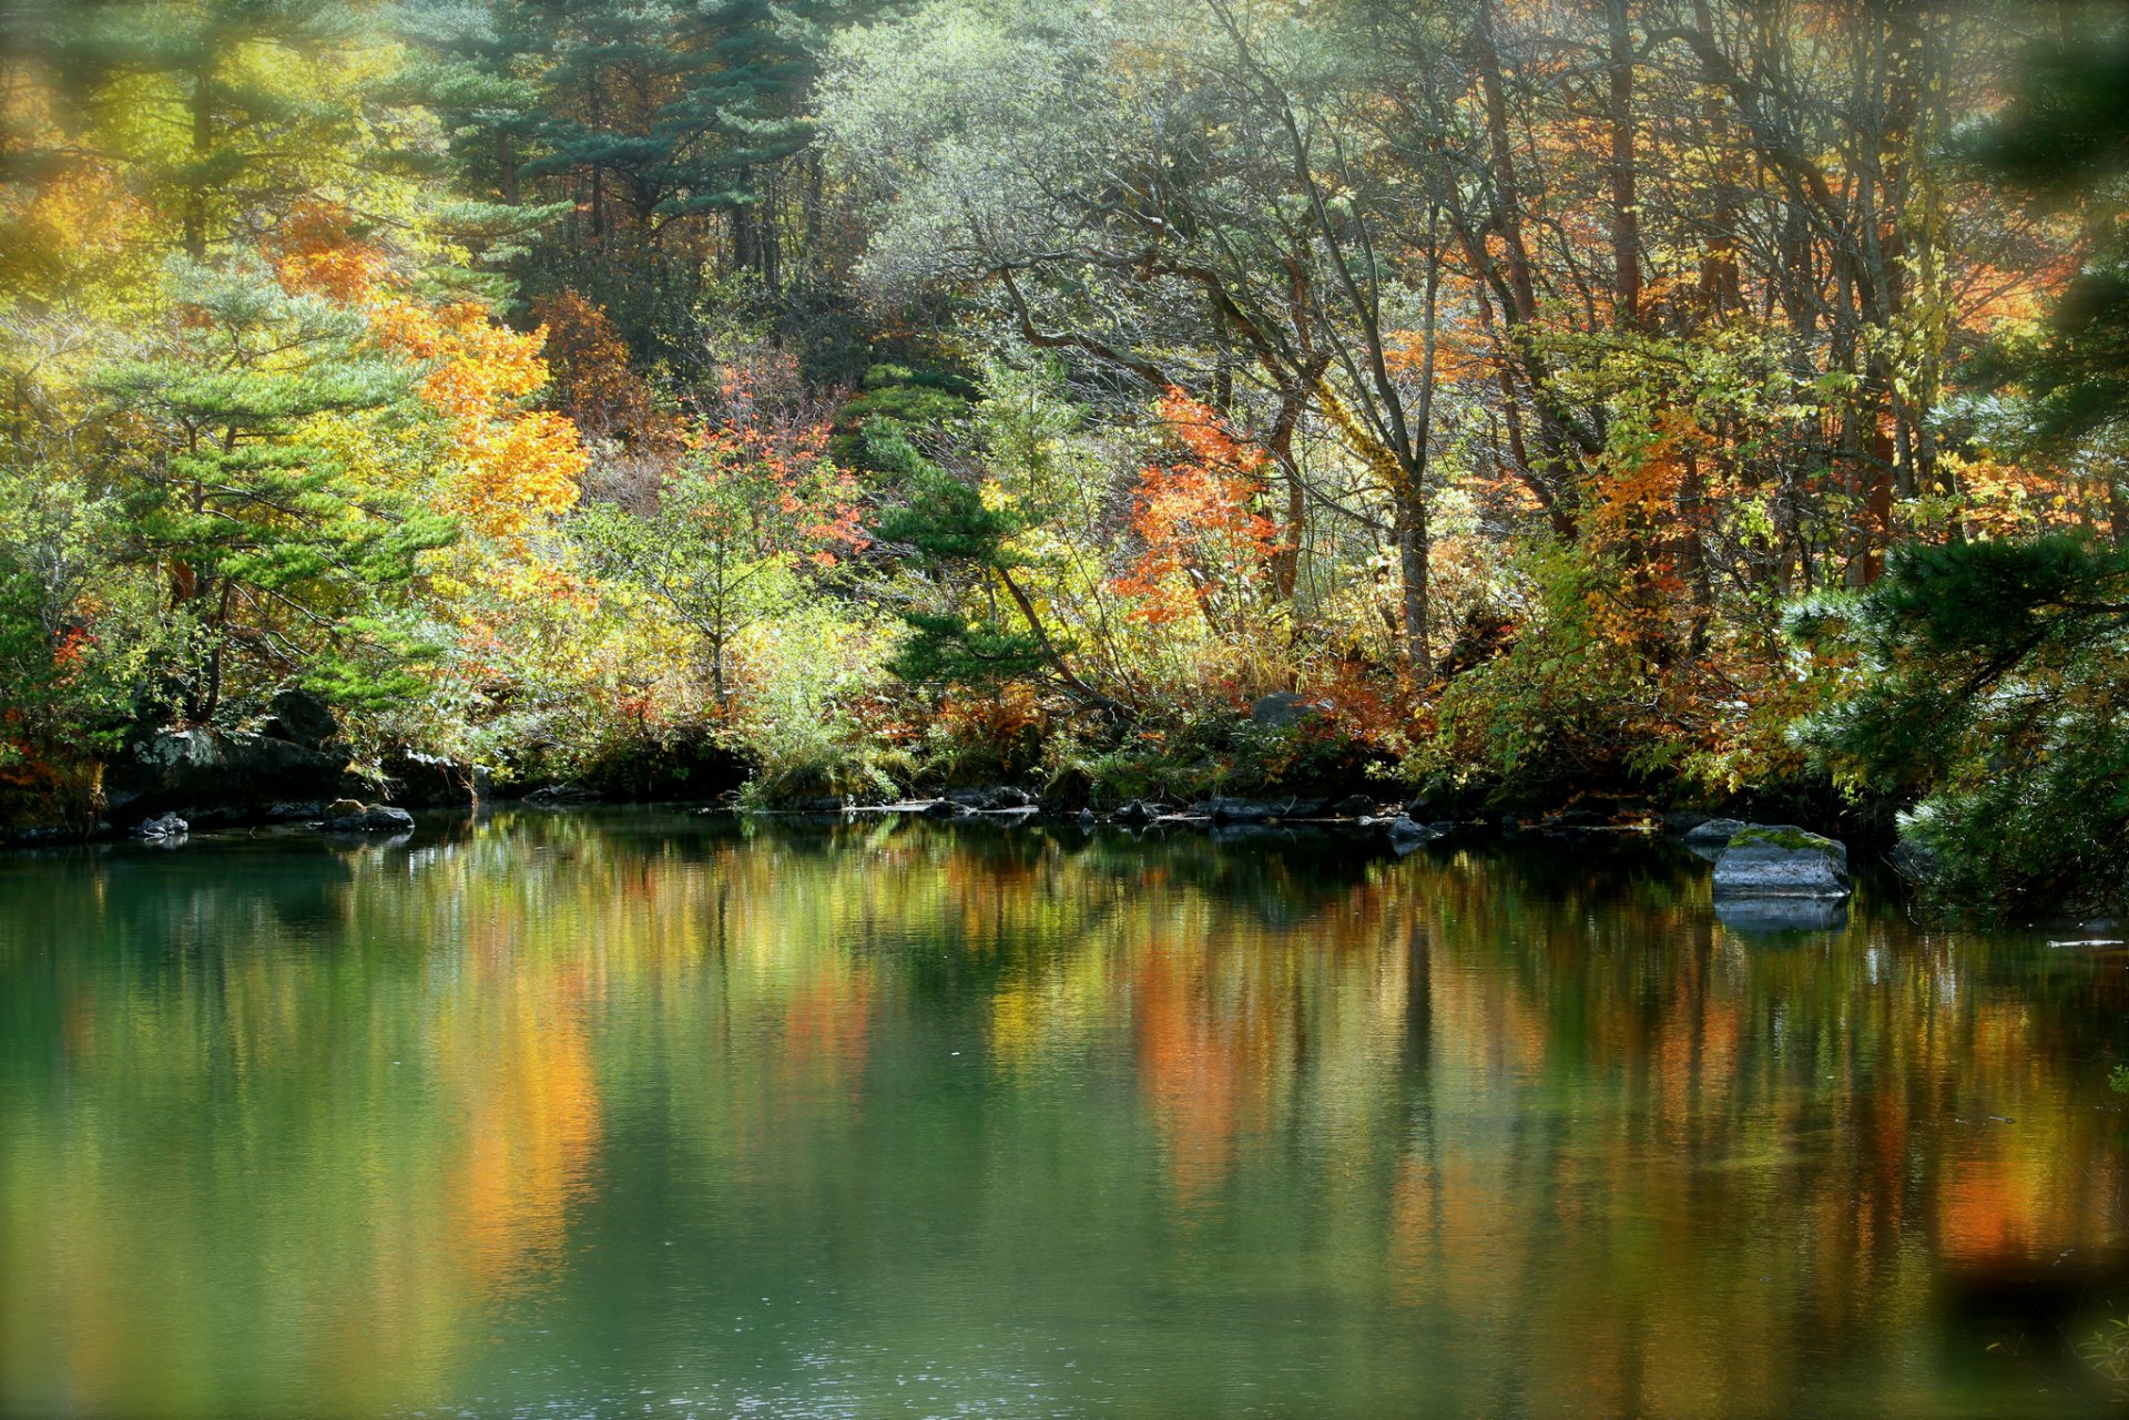
M 1850 783 L 1918 796 L 1933 892 L 1993 913 L 2129 903 L 2129 558 L 2069 536 L 1916 547 L 1797 630 L 1856 654 L 1805 734 Z

